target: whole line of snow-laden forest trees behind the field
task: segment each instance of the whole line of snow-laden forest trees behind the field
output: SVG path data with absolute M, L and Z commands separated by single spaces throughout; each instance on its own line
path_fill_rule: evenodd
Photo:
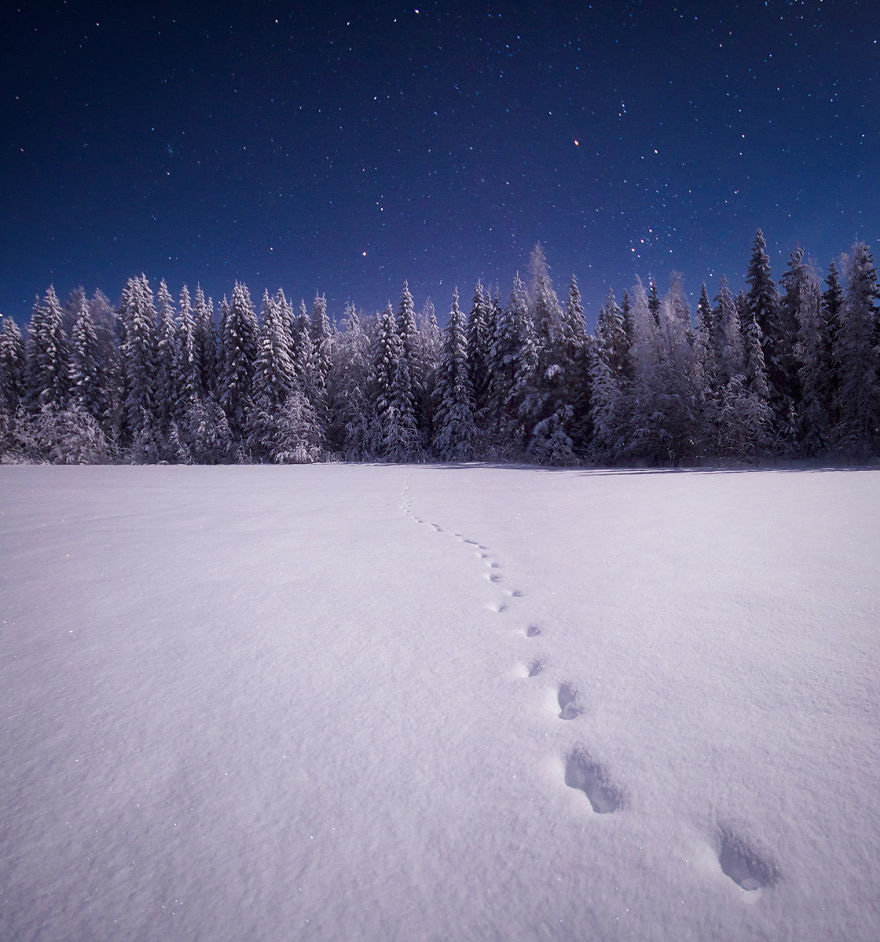
M 118 307 L 49 288 L 0 327 L 0 461 L 528 461 L 679 464 L 880 454 L 877 272 L 857 243 L 821 279 L 795 249 L 777 283 L 762 233 L 744 290 L 680 276 L 610 292 L 593 333 L 541 248 L 506 300 L 456 292 L 332 324 L 326 300 L 236 283 L 215 305 L 129 279 Z

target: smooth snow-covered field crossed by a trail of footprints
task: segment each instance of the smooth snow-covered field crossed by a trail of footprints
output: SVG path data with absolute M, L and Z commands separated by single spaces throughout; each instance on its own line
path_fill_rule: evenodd
M 880 472 L 0 469 L 0 938 L 880 938 Z

